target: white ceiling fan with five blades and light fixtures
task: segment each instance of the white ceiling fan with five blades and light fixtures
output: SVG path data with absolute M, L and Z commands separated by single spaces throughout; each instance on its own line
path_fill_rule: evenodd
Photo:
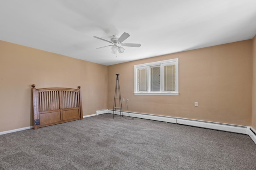
M 126 46 L 126 47 L 140 47 L 140 44 L 134 44 L 134 43 L 123 43 L 124 40 L 126 40 L 128 37 L 130 37 L 130 34 L 128 33 L 123 33 L 120 37 L 119 35 L 113 35 L 113 37 L 110 39 L 110 41 L 106 40 L 106 39 L 102 39 L 100 37 L 96 37 L 94 36 L 94 38 L 97 39 L 101 39 L 103 41 L 107 41 L 109 43 L 111 43 L 112 45 L 107 45 L 104 47 L 108 47 L 108 46 L 112 46 L 112 53 L 116 54 L 116 51 L 118 51 L 119 53 L 124 53 L 124 48 L 122 46 Z M 104 48 L 104 47 L 99 47 L 96 49 L 100 49 L 100 48 Z

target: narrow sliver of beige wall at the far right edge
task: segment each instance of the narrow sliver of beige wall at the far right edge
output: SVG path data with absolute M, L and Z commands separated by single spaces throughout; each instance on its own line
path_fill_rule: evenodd
M 252 39 L 252 127 L 256 129 L 256 36 Z

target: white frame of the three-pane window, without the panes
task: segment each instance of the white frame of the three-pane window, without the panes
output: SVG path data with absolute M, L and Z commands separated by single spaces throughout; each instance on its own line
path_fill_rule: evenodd
M 164 66 L 175 65 L 175 91 L 164 91 Z M 150 91 L 150 67 L 160 66 L 160 91 Z M 138 70 L 147 68 L 147 91 L 138 91 Z M 134 65 L 134 94 L 135 95 L 179 95 L 179 59 L 157 61 L 153 63 Z

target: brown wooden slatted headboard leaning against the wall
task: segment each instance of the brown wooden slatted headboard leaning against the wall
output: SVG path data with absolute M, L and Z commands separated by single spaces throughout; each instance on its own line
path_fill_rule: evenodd
M 83 119 L 81 87 L 40 88 L 32 84 L 34 129 Z

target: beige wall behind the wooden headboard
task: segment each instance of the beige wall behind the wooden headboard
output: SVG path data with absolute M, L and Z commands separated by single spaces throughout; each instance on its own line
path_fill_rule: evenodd
M 83 114 L 107 108 L 108 67 L 0 41 L 0 132 L 33 125 L 31 85 L 81 86 Z

